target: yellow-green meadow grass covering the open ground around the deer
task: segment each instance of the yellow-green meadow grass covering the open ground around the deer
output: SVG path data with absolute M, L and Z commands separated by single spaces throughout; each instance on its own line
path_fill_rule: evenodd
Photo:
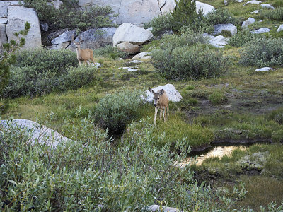
M 224 6 L 222 0 L 202 2 L 216 8 Z M 279 0 L 265 3 L 282 6 L 282 1 Z M 230 1 L 226 8 L 242 21 L 248 17 L 260 20 L 259 15 L 250 13 L 260 6 L 243 6 L 243 3 Z M 273 37 L 281 37 L 281 34 L 276 33 L 281 24 L 283 23 L 266 19 L 262 23 L 250 25 L 250 30 L 267 27 L 271 29 L 270 34 Z M 144 45 L 142 51 L 150 52 L 158 45 L 160 41 L 154 40 Z M 283 68 L 274 67 L 275 71 L 258 73 L 255 67 L 241 66 L 238 64 L 239 49 L 241 48 L 220 49 L 230 58 L 226 71 L 219 78 L 199 81 L 166 81 L 156 73 L 150 60 L 133 64 L 129 59 L 120 61 L 111 55 L 98 57 L 96 61 L 103 64 L 96 73 L 101 79 L 98 83 L 59 94 L 8 99 L 8 108 L 2 112 L 1 119 L 13 117 L 43 122 L 64 136 L 76 138 L 85 135 L 83 132 L 78 133 L 80 130 L 74 131 L 71 126 L 76 125 L 79 128 L 81 119 L 91 115 L 96 104 L 106 94 L 117 93 L 125 88 L 147 90 L 149 86 L 154 88 L 172 83 L 180 91 L 183 100 L 170 102 L 170 116 L 166 123 L 163 119 L 157 119 L 149 138 L 152 145 L 170 145 L 173 148 L 175 141 L 182 139 L 192 147 L 209 145 L 219 140 L 278 142 L 276 145 L 250 146 L 246 151 L 238 149 L 233 151 L 231 156 L 224 156 L 221 160 L 210 158 L 200 167 L 192 166 L 198 173 L 202 172 L 203 179 L 208 183 L 210 179 L 206 178 L 207 173 L 216 184 L 223 184 L 230 179 L 238 182 L 241 179 L 245 182 L 248 193 L 246 199 L 239 202 L 240 206 L 250 206 L 258 211 L 260 204 L 267 206 L 271 201 L 279 202 L 283 199 Z M 138 66 L 138 71 L 119 69 L 126 66 Z M 0 107 L 3 102 L 4 100 L 1 100 Z M 153 124 L 153 105 L 140 107 L 138 113 L 140 118 Z M 122 136 L 139 133 L 143 124 L 139 121 L 136 124 L 134 131 L 126 129 Z M 268 153 L 265 163 L 256 171 L 257 175 L 252 175 L 246 166 L 238 163 L 245 155 L 248 155 L 250 160 L 256 160 L 253 153 Z

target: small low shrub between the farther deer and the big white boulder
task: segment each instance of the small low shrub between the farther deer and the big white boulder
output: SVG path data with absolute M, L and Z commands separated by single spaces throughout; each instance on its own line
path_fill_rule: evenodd
M 100 47 L 99 49 L 95 49 L 93 54 L 101 57 L 109 57 L 110 59 L 116 59 L 117 57 L 126 58 L 127 54 L 122 52 L 117 47 L 112 47 L 111 45 L 107 45 L 105 47 Z

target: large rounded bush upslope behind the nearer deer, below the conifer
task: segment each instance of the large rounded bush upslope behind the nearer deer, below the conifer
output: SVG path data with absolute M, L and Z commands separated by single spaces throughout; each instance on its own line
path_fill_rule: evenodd
M 152 52 L 152 63 L 169 79 L 199 79 L 219 76 L 226 59 L 196 33 L 163 37 L 161 49 Z

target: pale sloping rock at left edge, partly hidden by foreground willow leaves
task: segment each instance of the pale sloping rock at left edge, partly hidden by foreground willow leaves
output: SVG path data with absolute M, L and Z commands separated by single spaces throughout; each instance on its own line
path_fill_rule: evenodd
M 6 128 L 12 126 L 17 127 L 18 129 L 23 129 L 23 131 L 30 134 L 30 141 L 32 143 L 45 143 L 52 148 L 56 148 L 61 142 L 71 141 L 71 139 L 62 136 L 57 131 L 27 119 L 1 120 L 0 124 Z

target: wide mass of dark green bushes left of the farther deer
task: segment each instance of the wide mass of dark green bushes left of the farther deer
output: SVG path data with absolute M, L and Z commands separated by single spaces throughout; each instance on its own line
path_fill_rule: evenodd
M 96 72 L 93 66 L 76 67 L 76 53 L 68 50 L 24 50 L 17 56 L 4 90 L 6 97 L 43 95 L 54 90 L 79 88 L 90 83 Z

